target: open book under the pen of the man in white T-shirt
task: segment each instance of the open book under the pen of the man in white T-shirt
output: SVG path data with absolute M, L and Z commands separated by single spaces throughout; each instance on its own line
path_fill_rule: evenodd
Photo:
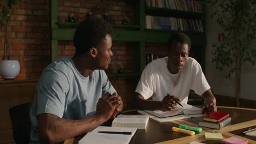
M 159 111 L 159 110 L 158 111 L 144 110 L 144 111 L 160 118 L 177 116 L 182 114 L 196 115 L 196 114 L 202 113 L 202 109 L 199 107 L 195 107 L 189 104 L 182 104 L 182 106 L 177 105 L 175 109 L 172 109 L 172 111 Z

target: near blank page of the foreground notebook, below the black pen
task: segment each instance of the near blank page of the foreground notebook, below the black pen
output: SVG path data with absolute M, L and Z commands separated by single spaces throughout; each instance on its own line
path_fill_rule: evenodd
M 131 138 L 131 135 L 87 133 L 78 143 L 128 144 Z

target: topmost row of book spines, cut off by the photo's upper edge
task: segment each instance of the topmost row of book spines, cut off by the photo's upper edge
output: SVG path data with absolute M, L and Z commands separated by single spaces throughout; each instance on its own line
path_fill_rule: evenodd
M 175 9 L 202 13 L 202 1 L 198 0 L 146 0 L 147 7 Z

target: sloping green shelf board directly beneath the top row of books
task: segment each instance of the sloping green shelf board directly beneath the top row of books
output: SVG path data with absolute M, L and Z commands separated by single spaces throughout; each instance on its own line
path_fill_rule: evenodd
M 175 10 L 175 9 L 165 9 L 165 8 L 154 8 L 154 7 L 146 7 L 145 8 L 146 15 L 159 15 L 164 17 L 197 17 L 201 19 L 204 16 L 203 13 L 195 13 L 192 11 L 184 11 L 184 10 Z M 194 19 L 193 18 L 193 19 Z

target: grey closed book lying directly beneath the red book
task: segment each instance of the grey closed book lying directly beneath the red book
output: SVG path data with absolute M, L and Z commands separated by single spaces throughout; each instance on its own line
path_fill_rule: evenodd
M 198 126 L 213 128 L 213 129 L 221 129 L 221 128 L 225 127 L 226 125 L 228 125 L 230 122 L 231 122 L 231 117 L 228 117 L 219 123 L 209 122 L 209 121 L 199 121 Z

